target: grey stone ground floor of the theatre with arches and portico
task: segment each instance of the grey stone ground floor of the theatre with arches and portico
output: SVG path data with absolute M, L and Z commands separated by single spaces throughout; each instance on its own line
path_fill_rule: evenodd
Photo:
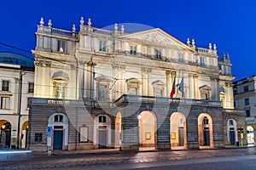
M 109 105 L 31 98 L 28 107 L 34 151 L 222 148 L 236 145 L 236 129 L 245 126 L 243 114 L 229 112 L 231 119 L 218 102 L 192 99 L 123 95 Z

